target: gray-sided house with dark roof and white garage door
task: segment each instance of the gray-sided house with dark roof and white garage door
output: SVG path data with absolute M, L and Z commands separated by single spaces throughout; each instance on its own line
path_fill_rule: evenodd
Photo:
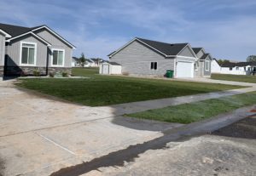
M 195 54 L 189 43 L 160 43 L 136 37 L 108 57 L 110 62 L 122 65 L 123 74 L 163 77 L 167 70 L 172 70 L 174 77 L 205 75 L 197 74 L 202 65 L 195 63 L 203 59 Z

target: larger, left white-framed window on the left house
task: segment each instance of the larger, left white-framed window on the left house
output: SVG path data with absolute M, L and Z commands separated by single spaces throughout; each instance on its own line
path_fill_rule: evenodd
M 20 65 L 36 65 L 37 43 L 20 43 Z

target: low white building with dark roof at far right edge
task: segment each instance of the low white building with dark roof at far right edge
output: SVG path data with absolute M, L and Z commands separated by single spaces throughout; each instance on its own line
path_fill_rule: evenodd
M 220 73 L 231 75 L 251 75 L 256 72 L 256 62 L 227 62 L 221 65 Z

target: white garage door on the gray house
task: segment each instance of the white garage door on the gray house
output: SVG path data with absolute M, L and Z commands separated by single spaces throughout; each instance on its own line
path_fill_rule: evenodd
M 194 63 L 177 61 L 177 77 L 194 77 Z

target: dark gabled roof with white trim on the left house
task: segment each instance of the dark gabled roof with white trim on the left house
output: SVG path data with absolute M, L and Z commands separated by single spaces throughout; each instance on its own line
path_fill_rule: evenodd
M 62 42 L 67 43 L 68 46 L 71 48 L 75 48 L 75 46 L 71 43 L 68 43 L 67 40 L 65 40 L 63 37 L 61 37 L 59 34 L 57 34 L 55 31 L 51 30 L 48 26 L 35 26 L 35 27 L 24 27 L 24 26 L 14 26 L 14 25 L 8 25 L 0 23 L 0 30 L 5 31 L 8 33 L 11 37 L 8 39 L 7 42 L 18 38 L 25 36 L 26 34 L 32 34 L 34 37 L 37 37 L 39 40 L 41 40 L 44 43 L 47 43 L 50 45 L 47 41 L 44 40 L 44 38 L 39 37 L 37 34 L 35 34 L 33 31 L 38 31 L 39 29 L 45 28 L 49 30 L 55 37 L 58 37 Z

